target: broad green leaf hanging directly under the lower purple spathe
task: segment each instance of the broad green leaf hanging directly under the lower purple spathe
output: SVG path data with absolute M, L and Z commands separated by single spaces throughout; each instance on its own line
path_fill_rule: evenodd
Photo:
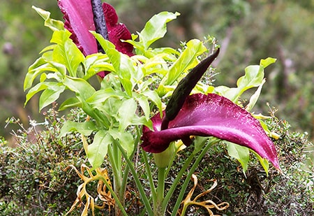
M 246 171 L 248 170 L 248 161 L 250 160 L 250 151 L 248 150 L 248 147 L 244 147 L 230 142 L 226 143 L 228 154 L 240 162 L 243 168 L 243 173 L 244 175 L 246 175 Z

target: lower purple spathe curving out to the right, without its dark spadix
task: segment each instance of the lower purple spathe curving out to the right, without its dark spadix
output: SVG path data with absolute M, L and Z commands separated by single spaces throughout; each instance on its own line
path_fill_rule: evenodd
M 260 122 L 218 94 L 188 96 L 167 129 L 160 130 L 162 119 L 159 113 L 151 121 L 154 131 L 144 127 L 142 135 L 142 147 L 146 152 L 163 152 L 172 141 L 179 139 L 188 146 L 192 143 L 190 136 L 215 136 L 251 148 L 279 168 L 276 148 Z

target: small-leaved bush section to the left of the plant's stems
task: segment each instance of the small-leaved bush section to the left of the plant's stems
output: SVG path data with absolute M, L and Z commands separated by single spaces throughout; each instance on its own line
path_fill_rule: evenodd
M 69 117 L 84 120 L 75 110 Z M 14 118 L 10 122 L 20 124 Z M 1 146 L 0 215 L 63 215 L 70 208 L 80 178 L 68 166 L 86 161 L 78 134 L 58 138 L 63 122 L 52 108 L 44 128 L 34 121 L 29 129 L 20 124 L 17 147 Z

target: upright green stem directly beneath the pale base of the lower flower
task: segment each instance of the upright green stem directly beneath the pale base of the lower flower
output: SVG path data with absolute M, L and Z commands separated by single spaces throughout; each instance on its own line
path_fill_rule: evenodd
M 158 168 L 158 185 L 156 189 L 157 197 L 156 201 L 154 201 L 154 216 L 165 215 L 166 208 L 163 206 L 163 199 L 165 195 L 165 170 L 165 167 Z

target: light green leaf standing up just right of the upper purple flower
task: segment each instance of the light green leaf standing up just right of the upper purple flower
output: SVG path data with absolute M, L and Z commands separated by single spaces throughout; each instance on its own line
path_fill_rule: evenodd
M 152 43 L 165 36 L 167 22 L 176 19 L 178 15 L 180 13 L 163 11 L 151 17 L 145 24 L 144 29 L 139 33 L 140 42 L 142 42 L 144 50 L 147 50 Z

